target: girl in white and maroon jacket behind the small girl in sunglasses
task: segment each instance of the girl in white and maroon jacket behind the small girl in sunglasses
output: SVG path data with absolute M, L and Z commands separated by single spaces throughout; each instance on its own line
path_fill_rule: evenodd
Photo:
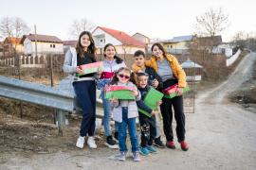
M 126 67 L 124 61 L 120 59 L 116 54 L 116 48 L 113 44 L 107 43 L 104 46 L 104 60 L 103 60 L 103 67 L 102 67 L 102 73 L 100 79 L 97 81 L 97 88 L 101 90 L 101 99 L 102 99 L 102 105 L 104 110 L 104 117 L 102 120 L 105 136 L 106 136 L 106 142 L 105 145 L 107 145 L 109 148 L 119 148 L 119 145 L 116 143 L 116 141 L 112 137 L 112 131 L 110 127 L 110 120 L 111 120 L 111 107 L 109 100 L 105 99 L 104 97 L 104 88 L 106 85 L 108 85 L 112 77 L 115 75 L 115 72 L 119 70 L 121 67 Z M 115 123 L 115 134 L 114 137 L 118 139 L 118 126 Z

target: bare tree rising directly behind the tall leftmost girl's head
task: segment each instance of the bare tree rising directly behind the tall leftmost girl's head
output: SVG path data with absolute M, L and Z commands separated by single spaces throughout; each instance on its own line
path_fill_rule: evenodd
M 77 39 L 82 31 L 92 31 L 95 27 L 96 26 L 86 18 L 74 20 L 69 28 L 70 37 Z

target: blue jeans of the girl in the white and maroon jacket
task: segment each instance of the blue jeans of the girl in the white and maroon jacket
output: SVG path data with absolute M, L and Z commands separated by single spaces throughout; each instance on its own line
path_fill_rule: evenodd
M 105 99 L 104 97 L 104 91 L 101 91 L 101 99 L 102 99 L 102 105 L 104 110 L 104 117 L 102 119 L 102 123 L 105 130 L 106 136 L 111 136 L 112 131 L 110 127 L 110 121 L 111 121 L 111 106 L 109 100 Z M 118 131 L 119 127 L 118 124 L 115 122 L 115 130 Z

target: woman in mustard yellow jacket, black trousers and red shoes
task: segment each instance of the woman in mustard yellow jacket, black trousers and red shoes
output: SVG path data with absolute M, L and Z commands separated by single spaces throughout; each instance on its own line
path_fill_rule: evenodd
M 163 117 L 163 128 L 166 136 L 166 146 L 174 149 L 174 133 L 173 133 L 173 110 L 174 118 L 176 120 L 176 134 L 178 143 L 181 149 L 187 151 L 189 149 L 188 143 L 185 142 L 185 114 L 183 111 L 182 89 L 187 86 L 186 75 L 177 59 L 173 55 L 166 54 L 163 46 L 160 43 L 155 43 L 152 46 L 153 57 L 145 62 L 146 66 L 154 68 L 158 76 L 161 77 L 162 91 L 170 88 L 174 84 L 178 85 L 176 90 L 177 96 L 168 98 L 165 95 L 162 98 L 160 106 Z M 164 92 L 164 91 L 163 91 Z

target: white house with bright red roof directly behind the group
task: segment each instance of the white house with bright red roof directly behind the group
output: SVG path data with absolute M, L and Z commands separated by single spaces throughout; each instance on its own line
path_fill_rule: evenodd
M 92 35 L 98 54 L 103 53 L 103 47 L 107 43 L 115 45 L 118 54 L 134 54 L 137 50 L 145 51 L 145 43 L 137 41 L 123 31 L 98 26 Z

